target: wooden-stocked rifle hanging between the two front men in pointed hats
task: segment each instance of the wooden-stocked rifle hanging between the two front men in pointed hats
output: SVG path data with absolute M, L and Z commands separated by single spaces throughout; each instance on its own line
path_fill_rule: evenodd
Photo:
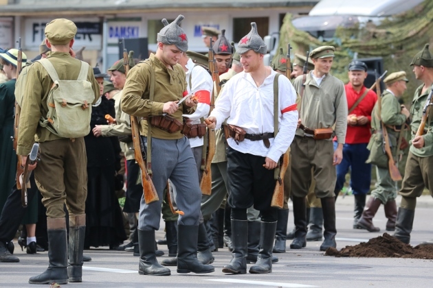
M 212 80 L 215 82 L 216 91 L 212 91 L 212 95 L 210 97 L 210 112 L 214 109 L 215 106 L 215 97 L 218 95 L 220 91 L 219 86 L 219 75 L 218 68 L 216 67 L 216 62 L 214 59 L 214 50 L 212 49 L 212 38 L 210 38 L 210 48 L 209 48 L 209 70 L 212 72 Z M 203 176 L 201 176 L 200 180 L 200 189 L 203 195 L 210 195 L 212 193 L 212 174 L 210 171 L 210 165 L 212 163 L 212 158 L 214 158 L 215 154 L 215 131 L 213 129 L 208 128 L 208 143 L 203 143 L 203 145 L 208 144 L 208 154 L 206 156 L 206 163 L 203 170 Z M 204 147 L 203 147 L 204 149 Z

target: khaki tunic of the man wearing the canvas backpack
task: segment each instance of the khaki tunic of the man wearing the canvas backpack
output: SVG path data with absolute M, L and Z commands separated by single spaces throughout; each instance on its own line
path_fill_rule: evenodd
M 49 52 L 48 57 L 57 71 L 60 80 L 76 80 L 80 73 L 81 61 L 71 58 L 69 53 Z M 46 128 L 38 125 L 41 115 L 48 113 L 47 97 L 54 82 L 47 71 L 39 62 L 34 62 L 31 68 L 27 69 L 25 81 L 25 93 L 19 118 L 19 134 L 16 154 L 27 155 L 32 150 L 33 143 L 62 139 L 52 134 Z M 87 81 L 91 82 L 95 91 L 95 103 L 99 98 L 99 85 L 93 76 L 93 69 L 89 67 Z

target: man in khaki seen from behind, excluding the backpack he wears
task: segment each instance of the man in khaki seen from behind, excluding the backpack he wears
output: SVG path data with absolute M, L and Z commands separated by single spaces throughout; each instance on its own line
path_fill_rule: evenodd
M 76 80 L 80 73 L 82 62 L 69 55 L 72 53 L 76 31 L 76 25 L 67 19 L 55 19 L 45 27 L 45 43 L 52 49 L 47 60 L 56 69 L 60 80 Z M 100 87 L 91 67 L 87 71 L 87 82 L 91 83 L 94 103 L 100 96 Z M 32 64 L 27 71 L 27 92 L 24 93 L 21 107 L 16 154 L 22 156 L 22 163 L 25 165 L 26 155 L 32 149 L 34 141 L 40 143 L 42 160 L 37 167 L 36 164 L 29 167 L 36 168 L 34 178 L 43 195 L 42 202 L 47 208 L 49 241 L 48 269 L 43 274 L 30 278 L 29 283 L 32 284 L 66 284 L 68 277 L 69 282 L 81 282 L 82 274 L 87 197 L 85 142 L 83 137 L 66 139 L 56 136 L 39 124 L 41 116 L 47 115 L 47 97 L 52 86 L 53 81 L 42 64 Z M 65 202 L 69 211 L 69 267 L 63 210 Z

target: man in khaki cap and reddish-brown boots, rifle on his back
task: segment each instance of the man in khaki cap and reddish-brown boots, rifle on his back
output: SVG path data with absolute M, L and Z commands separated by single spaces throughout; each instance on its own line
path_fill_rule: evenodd
M 386 125 L 386 131 L 388 132 L 388 138 L 390 140 L 391 152 L 394 158 L 399 158 L 399 137 L 403 136 L 398 130 L 404 130 L 404 124 L 410 112 L 404 106 L 401 107 L 397 97 L 403 96 L 406 91 L 406 78 L 405 71 L 399 71 L 391 73 L 385 78 L 384 83 L 386 84 L 386 91 L 381 96 L 381 115 L 380 119 Z M 378 141 L 378 137 L 381 137 L 381 122 L 379 121 L 379 115 L 377 113 L 377 104 L 373 109 L 371 115 L 371 128 L 373 129 L 373 135 L 368 143 L 368 148 L 373 153 L 367 160 L 367 163 L 373 163 L 376 165 L 377 181 L 375 184 L 375 190 L 371 191 L 370 198 L 366 204 L 365 210 L 362 212 L 361 218 L 357 221 L 357 225 L 370 232 L 378 232 L 380 229 L 373 225 L 373 217 L 377 213 L 380 204 L 384 204 L 385 216 L 388 218 L 386 222 L 386 230 L 395 230 L 395 219 L 397 218 L 397 206 L 395 204 L 395 197 L 397 197 L 397 182 L 393 181 L 390 176 L 388 169 L 388 157 L 384 155 L 382 145 L 373 149 L 373 145 L 382 143 Z M 375 154 L 374 151 L 379 151 L 379 154 Z

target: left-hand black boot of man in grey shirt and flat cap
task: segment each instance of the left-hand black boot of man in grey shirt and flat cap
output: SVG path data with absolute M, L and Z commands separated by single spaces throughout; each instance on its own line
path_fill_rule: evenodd
M 290 249 L 301 249 L 307 245 L 307 208 L 305 197 L 293 196 L 293 218 L 295 219 L 295 239 L 290 244 Z

